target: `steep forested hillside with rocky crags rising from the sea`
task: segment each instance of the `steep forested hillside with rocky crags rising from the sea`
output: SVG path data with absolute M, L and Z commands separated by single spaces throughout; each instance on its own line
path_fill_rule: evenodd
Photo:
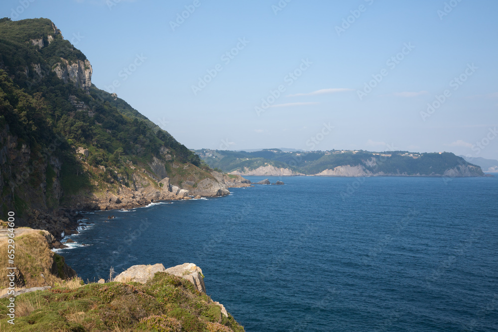
M 86 56 L 49 19 L 0 19 L 1 215 L 56 237 L 77 210 L 223 196 L 244 179 L 197 155 L 92 82 Z M 239 181 L 240 180 L 240 181 Z

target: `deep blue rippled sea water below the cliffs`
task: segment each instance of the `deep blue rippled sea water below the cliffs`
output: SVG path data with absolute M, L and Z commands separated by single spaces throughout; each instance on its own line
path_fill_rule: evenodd
M 498 178 L 276 180 L 85 214 L 61 254 L 90 281 L 195 263 L 248 332 L 498 331 Z

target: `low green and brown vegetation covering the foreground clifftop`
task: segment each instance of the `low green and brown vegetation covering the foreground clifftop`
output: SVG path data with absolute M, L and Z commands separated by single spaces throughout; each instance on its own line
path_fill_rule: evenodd
M 144 285 L 68 285 L 19 295 L 15 331 L 244 331 L 232 316 L 223 316 L 209 296 L 167 273 L 156 273 Z M 6 323 L 7 304 L 0 299 L 0 331 L 14 331 Z

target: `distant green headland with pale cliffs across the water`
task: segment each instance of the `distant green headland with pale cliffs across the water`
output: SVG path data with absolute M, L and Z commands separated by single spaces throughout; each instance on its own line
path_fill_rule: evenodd
M 210 167 L 238 175 L 484 176 L 479 166 L 448 152 L 283 152 L 279 149 L 236 152 L 202 149 L 196 153 Z

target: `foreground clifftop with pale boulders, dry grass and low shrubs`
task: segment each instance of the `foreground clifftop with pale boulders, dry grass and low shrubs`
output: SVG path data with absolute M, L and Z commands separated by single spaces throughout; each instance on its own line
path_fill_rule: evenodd
M 132 266 L 110 282 L 84 285 L 50 251 L 53 237 L 43 230 L 15 230 L 15 294 L 7 293 L 4 233 L 0 229 L 0 331 L 244 331 L 206 295 L 195 264 Z M 14 297 L 11 325 L 7 306 Z

